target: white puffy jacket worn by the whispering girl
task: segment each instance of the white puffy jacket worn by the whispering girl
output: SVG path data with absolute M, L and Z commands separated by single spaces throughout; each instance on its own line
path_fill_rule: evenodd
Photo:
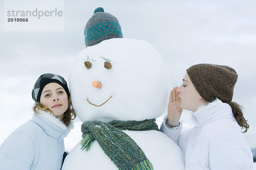
M 183 151 L 186 170 L 253 170 L 253 156 L 241 127 L 227 103 L 216 99 L 192 113 L 195 127 L 181 130 L 166 126 L 160 130 Z

